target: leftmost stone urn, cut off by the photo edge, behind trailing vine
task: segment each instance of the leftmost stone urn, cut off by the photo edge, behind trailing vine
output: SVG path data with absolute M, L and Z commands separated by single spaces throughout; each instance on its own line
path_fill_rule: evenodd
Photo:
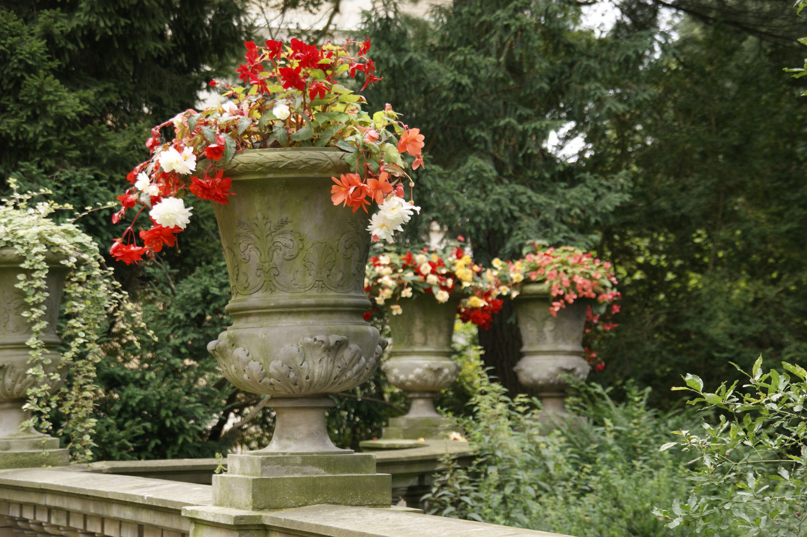
M 45 371 L 62 370 L 62 380 L 51 381 L 51 391 L 61 387 L 66 367 L 56 347 L 61 342 L 56 336 L 56 320 L 59 304 L 65 287 L 67 268 L 60 263 L 64 256 L 46 254 L 48 262 L 47 327 L 40 335 L 48 348 L 51 363 Z M 28 388 L 36 379 L 26 371 L 31 367 L 31 347 L 26 342 L 31 338 L 31 325 L 23 313 L 30 308 L 25 294 L 15 287 L 18 275 L 25 274 L 20 265 L 25 261 L 14 248 L 0 248 L 0 468 L 30 468 L 36 466 L 62 466 L 69 463 L 69 451 L 59 449 L 58 438 L 51 438 L 30 429 L 21 431 L 19 426 L 31 417 L 30 410 L 23 410 Z

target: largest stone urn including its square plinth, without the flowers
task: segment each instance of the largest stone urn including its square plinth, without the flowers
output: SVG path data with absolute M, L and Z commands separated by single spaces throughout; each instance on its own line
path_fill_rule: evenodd
M 233 324 L 207 348 L 232 384 L 271 396 L 275 427 L 269 446 L 228 455 L 215 505 L 390 505 L 391 478 L 375 473 L 374 455 L 335 447 L 325 427 L 327 394 L 368 380 L 387 345 L 362 317 L 368 216 L 331 201 L 346 155 L 253 149 L 224 169 L 234 195 L 213 207 Z

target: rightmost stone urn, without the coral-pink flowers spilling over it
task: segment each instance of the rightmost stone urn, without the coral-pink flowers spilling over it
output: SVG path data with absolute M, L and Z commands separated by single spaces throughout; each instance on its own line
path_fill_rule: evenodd
M 575 300 L 550 313 L 549 287 L 529 283 L 521 287 L 514 300 L 518 327 L 521 331 L 521 360 L 513 369 L 521 384 L 535 388 L 544 412 L 539 420 L 546 425 L 554 417 L 569 417 L 563 399 L 569 386 L 567 375 L 585 380 L 591 366 L 583 359 L 583 329 L 586 324 L 587 300 Z

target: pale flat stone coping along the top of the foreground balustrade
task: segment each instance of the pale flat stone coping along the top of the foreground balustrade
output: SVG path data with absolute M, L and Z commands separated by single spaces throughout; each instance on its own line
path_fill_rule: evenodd
M 25 505 L 34 506 L 36 513 L 38 506 L 72 510 L 86 513 L 86 520 L 90 515 L 116 518 L 185 535 L 193 532 L 194 524 L 202 524 L 221 531 L 266 527 L 266 535 L 309 537 L 560 537 L 401 507 L 307 506 L 261 511 L 215 507 L 211 506 L 212 489 L 210 485 L 87 472 L 77 466 L 0 471 L 0 501 L 22 504 L 23 511 Z M 232 535 L 236 534 L 243 532 Z M 161 535 L 175 534 L 164 530 Z

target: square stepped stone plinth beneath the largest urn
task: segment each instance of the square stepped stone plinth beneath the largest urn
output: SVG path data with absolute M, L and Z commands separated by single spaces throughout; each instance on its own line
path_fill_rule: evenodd
M 331 504 L 389 507 L 390 474 L 375 473 L 375 455 L 228 455 L 228 472 L 213 476 L 213 505 L 245 510 Z

